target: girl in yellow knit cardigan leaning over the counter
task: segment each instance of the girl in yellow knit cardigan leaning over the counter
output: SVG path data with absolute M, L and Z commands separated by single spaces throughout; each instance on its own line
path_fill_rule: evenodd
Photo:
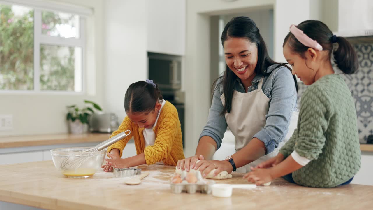
M 128 168 L 145 163 L 176 166 L 178 160 L 185 158 L 178 112 L 163 100 L 153 80 L 131 84 L 126 91 L 124 108 L 127 116 L 112 136 L 125 130 L 131 134 L 107 148 L 110 159 L 102 166 L 105 172 L 112 171 L 113 167 Z M 120 158 L 132 136 L 137 155 Z

